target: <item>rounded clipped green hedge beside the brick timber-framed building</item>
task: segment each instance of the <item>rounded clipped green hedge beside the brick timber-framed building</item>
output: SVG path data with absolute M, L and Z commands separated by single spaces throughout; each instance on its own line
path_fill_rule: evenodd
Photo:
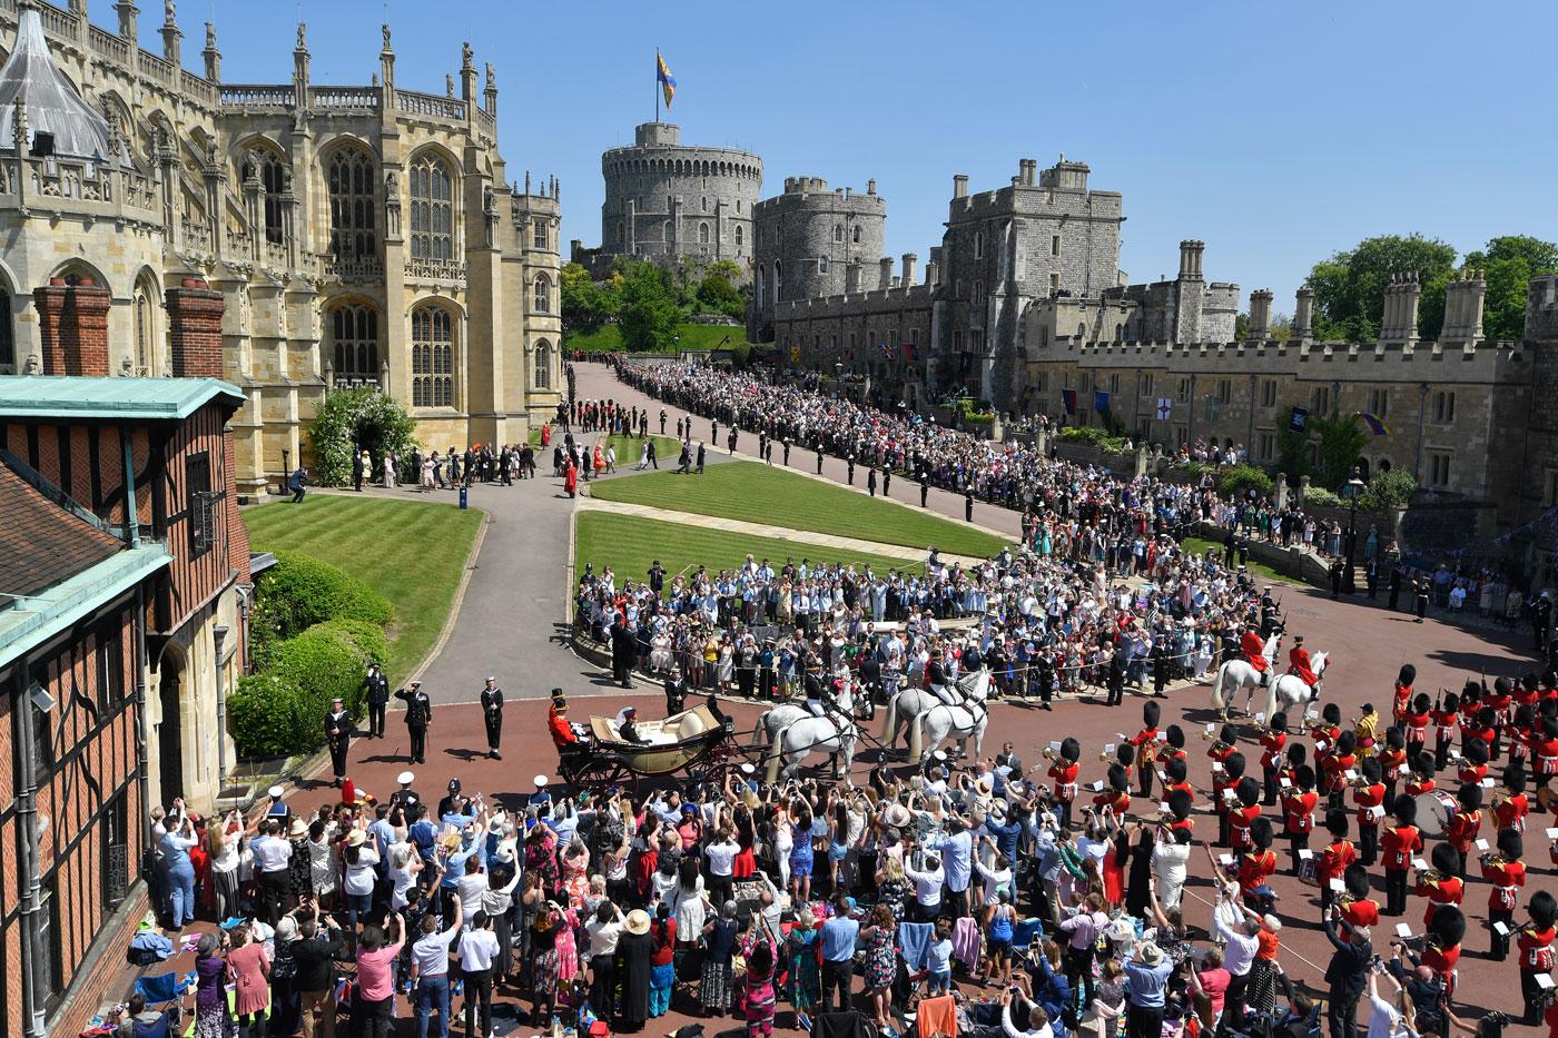
M 316 623 L 279 642 L 270 673 L 240 678 L 227 700 L 227 731 L 243 756 L 291 756 L 324 745 L 324 714 L 341 697 L 363 718 L 363 675 L 383 661 L 383 628 L 365 620 Z

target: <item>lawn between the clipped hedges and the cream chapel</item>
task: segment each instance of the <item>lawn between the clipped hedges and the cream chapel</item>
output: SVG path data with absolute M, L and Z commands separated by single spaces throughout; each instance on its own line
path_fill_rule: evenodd
M 338 494 L 308 494 L 301 505 L 273 503 L 240 514 L 256 552 L 307 552 L 394 603 L 385 661 L 391 686 L 411 676 L 444 630 L 483 517 L 455 505 Z

